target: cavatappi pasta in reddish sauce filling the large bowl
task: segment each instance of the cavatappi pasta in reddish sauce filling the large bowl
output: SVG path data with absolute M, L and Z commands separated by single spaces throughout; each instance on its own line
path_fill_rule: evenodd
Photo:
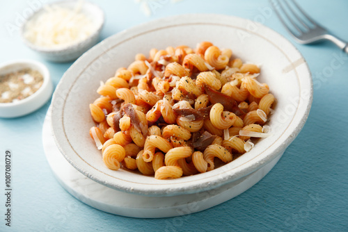
M 208 172 L 270 135 L 276 99 L 259 74 L 211 42 L 138 53 L 97 89 L 90 137 L 109 169 L 156 179 Z

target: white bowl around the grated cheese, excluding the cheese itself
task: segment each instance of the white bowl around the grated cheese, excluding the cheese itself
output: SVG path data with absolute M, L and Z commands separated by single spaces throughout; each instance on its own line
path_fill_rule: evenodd
M 77 1 L 58 1 L 51 3 L 49 5 L 58 5 L 63 8 L 71 8 L 74 9 Z M 34 17 L 38 17 L 40 13 L 43 12 L 43 9 L 39 9 L 35 14 L 29 17 L 26 22 L 33 19 Z M 54 62 L 68 62 L 71 60 L 76 60 L 88 49 L 93 47 L 99 40 L 100 32 L 102 31 L 102 27 L 104 25 L 104 12 L 103 10 L 90 2 L 84 2 L 81 7 L 81 13 L 88 15 L 96 25 L 96 30 L 94 33 L 88 36 L 85 40 L 69 45 L 68 47 L 58 47 L 58 48 L 47 48 L 47 47 L 39 47 L 24 37 L 24 31 L 26 30 L 26 23 L 22 26 L 22 40 L 24 44 L 26 44 L 29 48 L 33 49 L 39 53 L 43 58 L 47 60 L 51 60 Z

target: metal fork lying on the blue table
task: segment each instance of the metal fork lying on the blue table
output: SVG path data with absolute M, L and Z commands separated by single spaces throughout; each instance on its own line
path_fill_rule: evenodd
M 288 3 L 287 0 L 280 1 L 279 0 L 269 0 L 271 6 L 274 8 L 276 15 L 280 19 L 280 22 L 285 26 L 287 31 L 294 37 L 296 42 L 299 44 L 311 44 L 314 42 L 319 42 L 322 40 L 330 40 L 334 44 L 336 44 L 342 51 L 348 53 L 348 44 L 344 40 L 341 40 L 337 36 L 330 33 L 326 28 L 320 26 L 312 19 L 309 15 L 307 15 L 296 3 L 296 1 L 289 0 L 292 2 L 292 6 Z M 287 10 L 285 10 L 287 8 Z M 297 13 L 294 9 L 297 9 Z M 283 15 L 282 16 L 282 12 Z M 290 14 L 291 13 L 291 16 Z M 303 18 L 307 19 L 308 22 L 305 22 Z M 292 28 L 290 28 L 286 23 L 290 22 Z M 309 24 L 312 24 L 310 25 Z

